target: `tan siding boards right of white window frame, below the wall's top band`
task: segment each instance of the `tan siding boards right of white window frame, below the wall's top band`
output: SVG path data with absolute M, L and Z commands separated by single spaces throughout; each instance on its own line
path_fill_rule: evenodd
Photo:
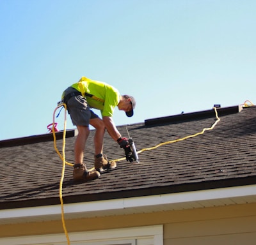
M 212 219 L 164 225 L 164 245 L 255 244 L 256 217 Z

